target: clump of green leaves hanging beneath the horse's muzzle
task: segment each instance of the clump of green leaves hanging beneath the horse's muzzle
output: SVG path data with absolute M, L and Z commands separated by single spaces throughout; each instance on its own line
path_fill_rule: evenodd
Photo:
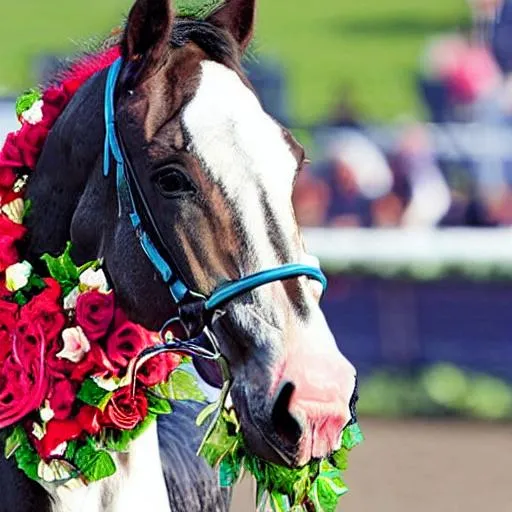
M 343 447 L 330 460 L 286 468 L 251 454 L 245 448 L 234 411 L 223 410 L 200 454 L 218 468 L 222 487 L 234 485 L 242 470 L 252 474 L 258 487 L 257 506 L 262 509 L 267 503 L 274 512 L 302 511 L 306 506 L 307 510 L 313 506 L 318 512 L 330 512 L 348 491 L 343 481 L 348 451 L 362 440 L 358 425 L 351 425 L 344 432 Z

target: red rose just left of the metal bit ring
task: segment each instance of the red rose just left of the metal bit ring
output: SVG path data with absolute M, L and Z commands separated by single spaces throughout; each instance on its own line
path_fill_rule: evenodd
M 153 345 L 148 331 L 126 322 L 107 340 L 107 356 L 118 370 L 127 368 L 146 347 Z

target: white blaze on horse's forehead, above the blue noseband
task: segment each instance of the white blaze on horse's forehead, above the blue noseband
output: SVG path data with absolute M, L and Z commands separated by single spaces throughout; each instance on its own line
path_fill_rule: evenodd
M 201 71 L 196 95 L 183 113 L 192 150 L 205 172 L 238 205 L 258 248 L 258 264 L 275 265 L 258 191 L 265 191 L 281 228 L 291 236 L 295 225 L 290 197 L 297 162 L 282 129 L 234 71 L 213 61 L 203 61 Z

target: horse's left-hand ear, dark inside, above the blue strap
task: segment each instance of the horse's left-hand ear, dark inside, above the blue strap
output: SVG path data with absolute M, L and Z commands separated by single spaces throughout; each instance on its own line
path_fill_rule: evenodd
M 136 0 L 128 16 L 122 41 L 126 62 L 141 62 L 147 69 L 169 47 L 174 12 L 172 0 Z

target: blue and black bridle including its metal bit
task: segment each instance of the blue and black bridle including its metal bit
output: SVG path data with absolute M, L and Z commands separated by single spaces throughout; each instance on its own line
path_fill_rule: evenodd
M 170 295 L 178 307 L 178 315 L 168 320 L 162 328 L 161 338 L 163 344 L 143 352 L 137 362 L 137 367 L 140 367 L 151 357 L 161 352 L 169 351 L 220 360 L 221 353 L 218 343 L 215 341 L 210 328 L 223 305 L 272 282 L 307 276 L 320 282 L 325 290 L 327 279 L 317 267 L 300 263 L 289 263 L 229 281 L 216 288 L 209 297 L 191 290 L 185 284 L 179 265 L 174 261 L 165 238 L 155 221 L 116 124 L 115 92 L 122 66 L 123 61 L 121 58 L 111 65 L 108 70 L 105 86 L 106 135 L 103 174 L 105 177 L 109 176 L 111 158 L 113 157 L 116 162 L 119 215 L 121 216 L 123 212 L 128 212 L 130 222 L 143 251 L 164 283 L 168 286 Z M 184 334 L 181 337 L 176 337 L 174 332 L 172 337 L 169 336 L 176 326 L 180 327 Z M 205 348 L 199 342 L 199 337 L 204 333 L 208 335 L 211 349 Z

